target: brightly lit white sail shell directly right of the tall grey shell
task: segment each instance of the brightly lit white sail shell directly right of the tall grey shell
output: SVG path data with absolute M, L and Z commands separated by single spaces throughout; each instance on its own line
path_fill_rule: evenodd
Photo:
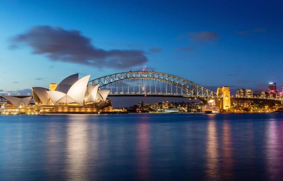
M 72 87 L 70 87 L 69 91 L 67 92 L 67 95 L 73 98 L 77 103 L 83 104 L 86 94 L 86 87 L 89 82 L 90 75 L 87 75 L 78 81 L 76 81 Z

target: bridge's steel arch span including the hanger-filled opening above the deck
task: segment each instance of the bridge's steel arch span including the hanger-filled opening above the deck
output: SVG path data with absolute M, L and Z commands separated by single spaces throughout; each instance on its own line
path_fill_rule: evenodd
M 213 92 L 187 79 L 154 71 L 129 71 L 89 81 L 100 89 L 110 89 L 109 96 L 216 97 Z

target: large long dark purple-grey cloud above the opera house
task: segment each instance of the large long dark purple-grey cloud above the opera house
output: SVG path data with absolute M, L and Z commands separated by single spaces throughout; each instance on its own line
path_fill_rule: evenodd
M 42 54 L 52 61 L 89 65 L 98 68 L 129 68 L 148 61 L 143 50 L 104 50 L 92 45 L 91 39 L 79 30 L 37 26 L 11 39 L 11 47 L 25 44 L 34 54 Z

